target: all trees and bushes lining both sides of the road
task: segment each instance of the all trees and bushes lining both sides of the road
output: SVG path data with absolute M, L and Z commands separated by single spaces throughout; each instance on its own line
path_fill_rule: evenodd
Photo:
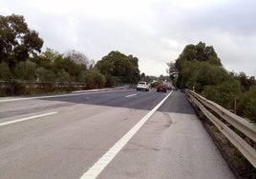
M 162 75 L 157 78 L 140 73 L 139 59 L 117 50 L 97 62 L 76 50 L 65 54 L 52 49 L 41 51 L 43 39 L 29 29 L 22 15 L 0 15 L 0 25 L 0 81 L 8 82 L 1 86 L 0 96 L 168 80 Z M 176 62 L 168 65 L 178 88 L 195 89 L 225 109 L 256 121 L 255 78 L 224 70 L 213 47 L 202 42 L 187 45 Z M 173 71 L 179 71 L 178 78 Z M 43 89 L 27 89 L 23 82 L 41 83 Z

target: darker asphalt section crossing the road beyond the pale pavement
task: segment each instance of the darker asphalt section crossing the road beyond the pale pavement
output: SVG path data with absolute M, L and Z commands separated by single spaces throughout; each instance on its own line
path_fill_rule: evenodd
M 43 100 L 62 101 L 67 103 L 88 104 L 97 106 L 108 106 L 116 108 L 151 110 L 160 103 L 160 101 L 163 99 L 165 95 L 167 94 L 151 90 L 150 92 L 139 92 L 139 97 L 136 98 L 125 98 L 124 93 L 120 92 L 106 92 L 98 94 L 92 93 L 77 96 L 46 98 Z M 176 90 L 173 91 L 173 93 L 161 105 L 160 109 L 158 110 L 162 112 L 196 114 L 195 110 L 188 102 L 185 93 Z

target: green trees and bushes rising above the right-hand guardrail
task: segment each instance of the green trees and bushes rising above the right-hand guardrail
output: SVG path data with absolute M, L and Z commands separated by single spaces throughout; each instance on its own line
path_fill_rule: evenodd
M 212 46 L 187 45 L 175 62 L 168 63 L 170 77 L 180 89 L 195 89 L 225 109 L 256 121 L 256 80 L 245 72 L 227 71 Z M 175 76 L 175 72 L 179 72 Z

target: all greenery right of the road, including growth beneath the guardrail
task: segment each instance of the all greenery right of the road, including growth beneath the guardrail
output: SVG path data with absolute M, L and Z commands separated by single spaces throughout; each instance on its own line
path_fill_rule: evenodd
M 175 63 L 169 63 L 170 77 L 180 89 L 194 89 L 225 109 L 230 109 L 246 120 L 256 122 L 256 80 L 245 72 L 224 70 L 213 47 L 187 45 Z M 179 76 L 176 76 L 179 71 Z M 237 178 L 255 178 L 255 168 L 245 159 L 203 113 L 199 111 L 203 124 L 221 150 L 230 169 Z M 230 127 L 232 128 L 232 127 Z M 241 134 L 255 149 L 255 142 Z

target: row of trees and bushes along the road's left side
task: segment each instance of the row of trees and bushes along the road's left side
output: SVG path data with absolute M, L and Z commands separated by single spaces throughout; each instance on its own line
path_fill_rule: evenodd
M 68 83 L 71 87 L 77 82 L 86 89 L 139 81 L 139 59 L 133 55 L 111 51 L 95 62 L 76 50 L 66 54 L 53 49 L 41 51 L 43 39 L 29 29 L 22 15 L 0 15 L 0 27 L 0 80 L 12 82 L 12 90 L 2 89 L 1 95 L 22 93 L 18 89 L 24 87 L 18 82 L 24 80 Z

